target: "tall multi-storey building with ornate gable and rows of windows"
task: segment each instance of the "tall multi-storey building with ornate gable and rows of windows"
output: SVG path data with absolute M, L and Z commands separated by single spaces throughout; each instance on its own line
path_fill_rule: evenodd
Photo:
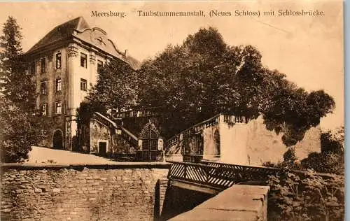
M 137 69 L 139 62 L 121 52 L 106 31 L 90 27 L 83 17 L 59 24 L 25 57 L 36 81 L 36 107 L 50 125 L 42 145 L 72 150 L 76 137 L 76 108 L 97 82 L 98 69 L 120 59 Z

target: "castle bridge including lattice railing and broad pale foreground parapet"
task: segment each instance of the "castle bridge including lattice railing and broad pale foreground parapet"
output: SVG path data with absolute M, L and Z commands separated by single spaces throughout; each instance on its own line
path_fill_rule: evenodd
M 193 198 L 176 204 L 182 211 L 170 219 L 172 221 L 209 221 L 209 220 L 252 220 L 267 221 L 267 201 L 269 176 L 288 176 L 293 172 L 304 179 L 306 171 L 290 171 L 262 166 L 243 166 L 220 162 L 202 161 L 172 163 L 167 178 L 168 187 L 173 187 Z M 316 173 L 322 178 L 332 178 L 329 174 Z M 190 191 L 197 194 L 190 194 Z M 207 194 L 206 198 L 196 200 L 195 196 Z M 176 198 L 174 194 L 172 197 Z M 170 197 L 168 197 L 170 198 Z M 187 197 L 188 198 L 188 197 Z M 182 206 L 181 205 L 187 205 Z M 190 206 L 188 206 L 190 205 Z M 192 205 L 192 206 L 191 206 Z M 176 207 L 176 208 L 177 208 Z

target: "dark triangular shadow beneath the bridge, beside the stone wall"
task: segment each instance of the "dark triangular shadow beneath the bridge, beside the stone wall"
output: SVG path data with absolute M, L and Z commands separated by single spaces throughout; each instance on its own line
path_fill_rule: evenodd
M 156 191 L 155 194 L 157 194 L 157 192 L 159 191 Z M 154 220 L 169 220 L 174 218 L 176 215 L 190 211 L 211 197 L 214 197 L 214 194 L 175 187 L 170 185 L 170 182 L 168 181 L 162 210 L 160 215 L 157 214 L 158 216 L 154 216 Z M 157 200 L 155 202 L 157 202 Z M 159 206 L 159 204 L 155 203 L 155 211 L 160 211 L 159 207 L 156 210 L 156 206 Z

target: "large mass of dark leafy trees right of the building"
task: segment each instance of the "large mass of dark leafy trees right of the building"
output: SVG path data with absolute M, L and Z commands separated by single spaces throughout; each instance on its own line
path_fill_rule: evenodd
M 200 29 L 182 45 L 169 45 L 141 65 L 141 106 L 164 106 L 165 129 L 176 133 L 217 113 L 259 115 L 267 129 L 295 145 L 335 102 L 322 90 L 306 92 L 279 71 L 265 68 L 251 45 L 230 46 L 214 28 Z

